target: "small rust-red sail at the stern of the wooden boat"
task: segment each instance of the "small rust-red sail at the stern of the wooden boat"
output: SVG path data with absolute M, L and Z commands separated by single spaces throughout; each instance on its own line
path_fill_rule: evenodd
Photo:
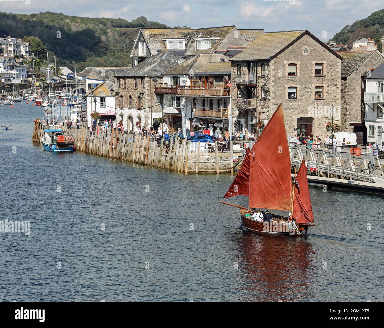
M 296 181 L 298 186 L 295 186 L 292 217 L 296 219 L 296 223 L 313 223 L 311 196 L 304 159 L 297 172 Z

